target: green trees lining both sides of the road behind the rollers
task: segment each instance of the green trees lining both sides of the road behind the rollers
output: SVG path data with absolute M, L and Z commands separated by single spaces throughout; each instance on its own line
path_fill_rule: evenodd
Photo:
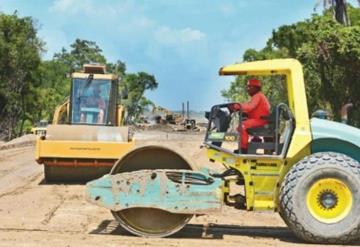
M 277 28 L 263 49 L 248 49 L 240 60 L 298 59 L 304 67 L 309 113 L 324 109 L 340 120 L 341 107 L 351 102 L 351 124 L 360 126 L 360 9 L 348 5 L 346 23 L 334 18 L 334 9 Z M 156 78 L 148 72 L 128 73 L 124 61 L 108 61 L 94 41 L 76 39 L 50 60 L 42 58 L 45 47 L 32 17 L 0 13 L 0 139 L 20 136 L 42 119 L 51 122 L 55 107 L 69 94 L 66 75 L 84 63 L 106 64 L 108 72 L 121 78 L 119 92 L 128 92 L 123 100 L 127 123 L 152 105 L 144 93 L 158 87 Z M 237 77 L 222 91 L 223 97 L 247 100 L 246 79 Z M 280 76 L 264 78 L 263 90 L 274 104 L 287 101 L 284 87 Z

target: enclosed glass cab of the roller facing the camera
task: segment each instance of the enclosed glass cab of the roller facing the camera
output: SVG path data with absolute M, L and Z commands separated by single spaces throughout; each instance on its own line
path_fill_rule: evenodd
M 84 65 L 84 72 L 72 74 L 70 123 L 115 125 L 117 90 L 117 78 L 105 66 Z

